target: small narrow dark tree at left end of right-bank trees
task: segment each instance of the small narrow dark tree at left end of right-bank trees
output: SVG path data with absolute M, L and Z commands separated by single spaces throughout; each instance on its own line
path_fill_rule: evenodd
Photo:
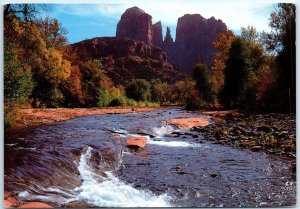
M 201 98 L 205 102 L 213 102 L 216 99 L 216 94 L 213 91 L 208 67 L 204 64 L 195 65 L 193 68 L 193 79 L 196 81 L 196 86 Z

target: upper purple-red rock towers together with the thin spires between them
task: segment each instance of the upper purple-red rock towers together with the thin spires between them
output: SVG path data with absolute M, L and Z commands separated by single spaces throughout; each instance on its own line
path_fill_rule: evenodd
M 122 15 L 117 26 L 117 37 L 127 37 L 158 46 L 166 52 L 168 61 L 176 68 L 190 73 L 193 65 L 198 62 L 211 64 L 215 53 L 212 43 L 225 30 L 226 25 L 214 17 L 205 19 L 199 14 L 186 14 L 178 18 L 175 42 L 170 28 L 167 28 L 165 40 L 162 41 L 161 22 L 152 25 L 149 14 L 133 7 Z

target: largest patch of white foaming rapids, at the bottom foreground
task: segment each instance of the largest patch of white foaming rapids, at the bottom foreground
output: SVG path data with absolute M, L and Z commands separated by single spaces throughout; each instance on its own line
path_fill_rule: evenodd
M 74 189 L 77 193 L 73 200 L 83 200 L 101 207 L 168 207 L 170 197 L 166 194 L 156 196 L 150 191 L 137 190 L 119 180 L 112 172 L 106 176 L 96 174 L 88 165 L 93 148 L 88 147 L 81 155 L 78 171 L 82 185 Z

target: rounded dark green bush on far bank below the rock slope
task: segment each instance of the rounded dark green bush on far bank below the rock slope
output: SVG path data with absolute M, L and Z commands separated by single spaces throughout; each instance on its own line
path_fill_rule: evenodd
M 136 101 L 150 101 L 150 84 L 145 79 L 133 80 L 125 89 L 126 96 Z

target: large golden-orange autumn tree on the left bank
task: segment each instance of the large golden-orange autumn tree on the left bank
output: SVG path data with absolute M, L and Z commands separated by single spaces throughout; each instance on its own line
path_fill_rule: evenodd
M 32 73 L 35 83 L 33 106 L 61 105 L 64 95 L 60 86 L 71 71 L 62 48 L 47 44 L 41 26 L 35 21 L 25 22 L 16 17 L 6 19 L 4 36 L 14 42 L 18 61 Z

